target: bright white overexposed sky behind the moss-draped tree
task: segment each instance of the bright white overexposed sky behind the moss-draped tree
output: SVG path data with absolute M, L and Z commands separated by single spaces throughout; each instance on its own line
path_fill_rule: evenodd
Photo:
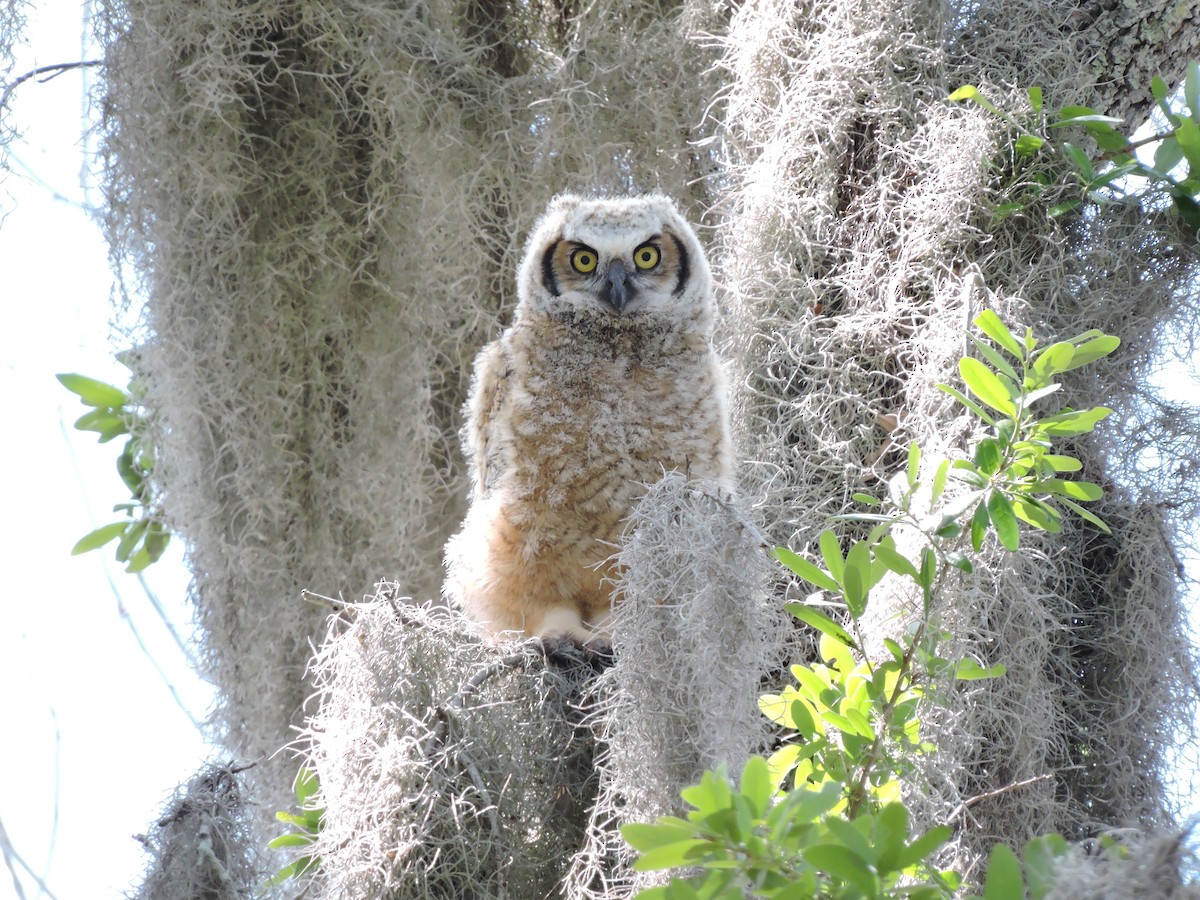
M 18 73 L 96 55 L 80 47 L 89 29 L 78 0 L 37 6 Z M 114 503 L 127 499 L 113 466 L 120 442 L 100 446 L 74 432 L 71 422 L 83 407 L 54 378 L 126 379 L 113 360 L 127 342 L 109 324 L 107 251 L 85 211 L 100 198 L 90 176 L 80 186 L 94 150 L 82 136 L 86 90 L 88 73 L 79 71 L 18 89 L 13 116 L 25 140 L 13 149 L 14 173 L 0 188 L 0 208 L 8 211 L 0 223 L 0 396 L 8 397 L 0 559 L 10 586 L 0 628 L 0 822 L 60 900 L 119 896 L 138 880 L 144 857 L 132 835 L 146 830 L 206 758 L 188 713 L 203 719 L 211 702 L 110 548 L 68 556 L 79 536 L 115 518 Z M 1170 380 L 1182 396 L 1200 396 L 1178 370 Z M 178 542 L 148 580 L 186 635 Z M 1184 785 L 1195 782 L 1195 769 L 1194 758 L 1183 764 Z M 1200 811 L 1200 800 L 1193 808 Z M 38 895 L 28 874 L 22 884 L 30 900 Z M 0 866 L 0 900 L 18 896 Z

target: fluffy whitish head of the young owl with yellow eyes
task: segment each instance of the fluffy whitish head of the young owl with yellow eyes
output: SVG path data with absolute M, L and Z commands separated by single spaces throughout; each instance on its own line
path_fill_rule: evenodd
M 526 247 L 517 317 L 712 332 L 708 260 L 662 194 L 551 200 Z

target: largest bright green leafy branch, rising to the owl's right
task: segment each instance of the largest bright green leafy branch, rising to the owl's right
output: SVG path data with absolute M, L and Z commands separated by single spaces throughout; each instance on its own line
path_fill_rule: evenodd
M 968 456 L 925 467 L 919 446 L 911 444 L 888 497 L 854 494 L 874 511 L 839 517 L 871 526 L 845 553 L 830 529 L 817 539 L 820 562 L 786 547 L 774 551 L 816 588 L 805 602 L 787 608 L 821 634 L 821 661 L 792 666 L 796 683 L 761 697 L 763 713 L 787 737 L 770 757 L 751 757 L 738 785 L 724 770 L 706 773 L 683 792 L 692 808 L 686 818 L 622 829 L 642 853 L 635 870 L 700 870 L 644 890 L 640 900 L 956 895 L 961 877 L 931 862 L 950 839 L 952 822 L 914 835 L 900 785 L 920 756 L 936 750 L 922 737 L 920 714 L 942 702 L 941 685 L 998 678 L 1004 666 L 941 655 L 952 636 L 934 624 L 935 612 L 952 571 L 973 570 L 967 551 L 978 552 L 989 533 L 1006 550 L 1018 551 L 1022 526 L 1056 533 L 1064 511 L 1106 530 L 1080 505 L 1103 491 L 1063 478 L 1082 463 L 1054 452 L 1052 442 L 1086 434 L 1111 410 L 1063 408 L 1042 415 L 1040 408 L 1061 389 L 1057 376 L 1120 346 L 1096 330 L 1040 346 L 1031 331 L 1015 336 L 990 310 L 974 324 L 980 334 L 971 340 L 979 356 L 959 364 L 965 391 L 940 386 L 978 416 L 986 433 Z M 923 468 L 932 469 L 928 481 Z M 952 482 L 958 487 L 948 492 Z M 896 545 L 896 528 L 916 532 L 914 550 Z M 920 614 L 896 640 L 883 638 L 886 655 L 878 659 L 868 652 L 862 622 L 872 589 L 889 575 L 912 583 Z M 835 610 L 848 622 L 830 614 Z M 1067 850 L 1057 835 L 1030 841 L 1022 859 L 995 847 L 984 900 L 1040 900 Z

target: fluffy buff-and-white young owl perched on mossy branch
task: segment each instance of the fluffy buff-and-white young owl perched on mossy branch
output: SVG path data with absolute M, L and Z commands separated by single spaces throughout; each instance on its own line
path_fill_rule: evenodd
M 517 296 L 475 359 L 470 505 L 444 594 L 492 635 L 604 647 L 613 553 L 646 485 L 680 472 L 733 488 L 713 280 L 668 198 L 563 194 L 534 227 Z

